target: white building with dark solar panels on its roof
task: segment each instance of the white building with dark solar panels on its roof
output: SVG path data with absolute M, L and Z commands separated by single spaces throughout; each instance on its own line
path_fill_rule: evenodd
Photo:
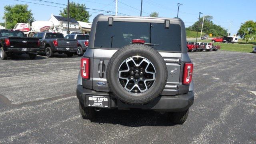
M 68 18 L 62 17 L 62 16 L 54 16 L 52 14 L 51 18 L 48 21 L 52 21 L 54 24 L 53 31 L 55 32 L 61 32 L 64 36 L 67 35 L 68 31 Z M 74 18 L 69 19 L 69 31 L 72 32 L 82 32 L 79 29 L 79 23 Z

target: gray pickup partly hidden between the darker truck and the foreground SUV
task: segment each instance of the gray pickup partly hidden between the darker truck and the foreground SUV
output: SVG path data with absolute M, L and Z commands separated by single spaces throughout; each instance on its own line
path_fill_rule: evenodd
M 68 34 L 65 36 L 65 38 L 68 39 L 75 39 L 78 42 L 78 48 L 76 51 L 76 54 L 78 56 L 82 56 L 84 52 L 86 51 L 88 45 L 89 45 L 89 34 L 82 34 L 77 32 L 72 32 L 71 34 Z

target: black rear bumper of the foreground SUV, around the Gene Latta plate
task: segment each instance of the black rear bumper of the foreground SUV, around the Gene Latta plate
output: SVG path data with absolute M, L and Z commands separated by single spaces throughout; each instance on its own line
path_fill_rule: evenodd
M 83 88 L 82 85 L 78 85 L 76 88 L 76 96 L 83 104 L 86 104 L 86 95 L 109 96 L 110 108 L 118 108 L 122 110 L 139 108 L 162 112 L 180 112 L 187 110 L 194 102 L 194 92 L 190 91 L 187 94 L 177 94 L 175 96 L 159 96 L 158 98 L 144 105 L 125 104 L 116 98 L 111 92 L 97 92 L 95 90 Z

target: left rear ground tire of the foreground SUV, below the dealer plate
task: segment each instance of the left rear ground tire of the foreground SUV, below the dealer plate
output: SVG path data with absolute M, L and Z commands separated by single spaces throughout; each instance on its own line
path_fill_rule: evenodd
M 96 116 L 93 108 L 84 107 L 84 104 L 79 102 L 79 111 L 83 119 L 92 119 Z

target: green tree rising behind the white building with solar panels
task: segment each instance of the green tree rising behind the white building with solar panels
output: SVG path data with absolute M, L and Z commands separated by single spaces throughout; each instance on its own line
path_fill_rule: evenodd
M 88 22 L 90 18 L 89 12 L 85 10 L 85 4 L 79 4 L 75 2 L 70 2 L 69 4 L 69 16 L 70 18 L 75 18 L 78 21 Z M 63 11 L 60 10 L 60 16 L 68 17 L 68 8 L 64 8 Z

